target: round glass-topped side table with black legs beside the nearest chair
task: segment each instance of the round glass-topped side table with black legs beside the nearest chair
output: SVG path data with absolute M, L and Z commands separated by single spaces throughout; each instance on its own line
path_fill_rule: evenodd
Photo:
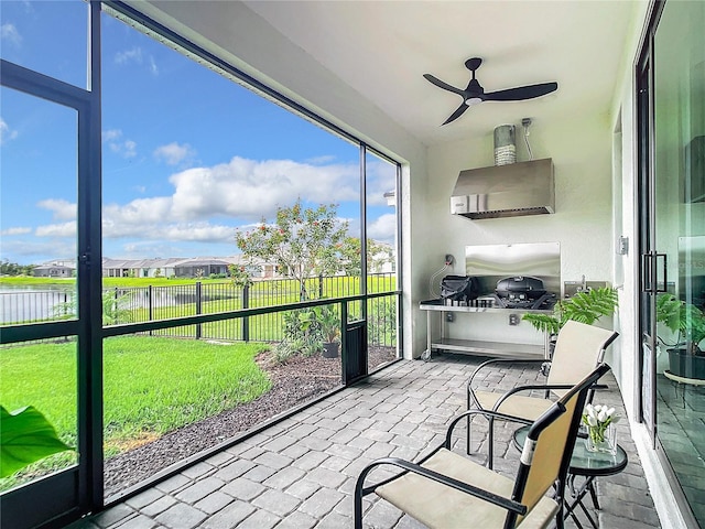
M 523 447 L 529 428 L 529 425 L 521 427 L 514 431 L 513 438 L 517 449 L 521 450 Z M 619 474 L 627 466 L 627 453 L 619 444 L 617 444 L 617 453 L 615 455 L 607 452 L 589 452 L 585 446 L 585 438 L 578 434 L 578 438 L 575 440 L 573 455 L 571 456 L 571 465 L 566 481 L 571 498 L 568 499 L 567 496 L 563 498 L 565 506 L 563 518 L 573 518 L 578 529 L 582 529 L 583 526 L 575 515 L 575 508 L 579 507 L 590 525 L 595 529 L 598 529 L 597 520 L 588 512 L 583 504 L 583 498 L 589 493 L 593 505 L 596 509 L 599 509 L 599 501 L 597 500 L 597 493 L 595 492 L 595 478 Z M 575 481 L 578 477 L 582 477 L 583 481 L 579 486 L 576 486 Z

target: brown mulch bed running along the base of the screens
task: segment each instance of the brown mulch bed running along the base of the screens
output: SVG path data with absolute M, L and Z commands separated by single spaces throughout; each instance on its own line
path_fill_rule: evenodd
M 370 347 L 369 365 L 378 366 L 393 360 L 394 357 L 394 348 Z M 183 427 L 107 460 L 106 497 L 116 495 L 169 465 L 246 432 L 295 406 L 311 401 L 341 384 L 340 358 L 294 357 L 284 364 L 276 364 L 272 361 L 270 353 L 263 353 L 258 356 L 257 363 L 272 380 L 270 391 L 252 402 Z

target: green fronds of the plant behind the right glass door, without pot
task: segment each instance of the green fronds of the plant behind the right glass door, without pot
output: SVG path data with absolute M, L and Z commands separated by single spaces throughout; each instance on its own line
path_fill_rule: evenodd
M 705 313 L 701 309 L 664 293 L 657 298 L 657 322 L 677 334 L 673 347 L 683 347 L 690 355 L 705 356 L 705 350 L 699 347 L 705 339 Z M 663 338 L 659 339 L 663 342 Z

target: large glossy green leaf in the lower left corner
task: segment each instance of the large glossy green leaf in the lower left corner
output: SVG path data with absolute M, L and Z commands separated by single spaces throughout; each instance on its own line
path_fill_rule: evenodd
M 9 412 L 0 406 L 0 477 L 8 477 L 44 457 L 74 450 L 32 406 Z

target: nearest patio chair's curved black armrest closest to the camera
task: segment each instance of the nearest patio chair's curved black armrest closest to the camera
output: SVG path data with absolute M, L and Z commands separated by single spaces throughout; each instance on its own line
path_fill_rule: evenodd
M 392 466 L 398 466 L 399 468 L 403 468 L 405 472 L 399 474 L 398 476 L 394 476 L 390 479 L 386 479 L 382 483 L 378 483 L 373 486 L 370 487 L 364 487 L 365 484 L 365 478 L 367 477 L 367 475 L 376 467 L 380 466 L 380 465 L 392 465 Z M 453 477 L 449 476 L 445 476 L 443 474 L 440 474 L 437 472 L 431 471 L 429 468 L 424 468 L 423 466 L 420 466 L 415 463 L 411 463 L 409 461 L 404 461 L 404 460 L 400 460 L 398 457 L 382 457 L 380 460 L 373 461 L 372 463 L 370 463 L 369 465 L 367 465 L 362 472 L 360 473 L 360 476 L 358 477 L 357 484 L 355 486 L 356 489 L 356 494 L 358 494 L 358 492 L 361 492 L 362 494 L 369 494 L 370 492 L 375 490 L 375 488 L 379 487 L 380 485 L 383 485 L 386 483 L 389 483 L 390 481 L 395 479 L 397 477 L 400 477 L 406 473 L 412 473 L 412 474 L 417 474 L 420 476 L 423 476 L 425 478 L 429 479 L 433 479 L 434 482 L 441 483 L 442 485 L 445 485 L 447 487 L 451 488 L 455 488 L 456 490 L 460 490 L 465 494 L 469 494 L 470 496 L 475 496 L 476 498 L 480 498 L 484 499 L 486 501 L 489 501 L 490 504 L 497 505 L 498 507 L 501 507 L 503 509 L 510 510 L 512 512 L 517 512 L 518 515 L 525 515 L 527 514 L 527 506 L 522 505 L 518 501 L 514 501 L 510 498 L 506 498 L 503 496 L 499 496 L 498 494 L 495 493 L 490 493 L 489 490 L 485 490 L 482 488 L 473 486 L 473 485 L 468 485 L 467 483 L 463 483 L 459 482 L 457 479 L 454 479 Z

